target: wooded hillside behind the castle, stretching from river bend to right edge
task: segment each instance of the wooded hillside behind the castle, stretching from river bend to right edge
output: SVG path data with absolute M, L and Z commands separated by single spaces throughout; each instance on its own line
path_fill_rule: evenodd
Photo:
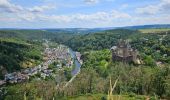
M 56 37 L 54 41 L 68 45 L 75 51 L 88 52 L 110 49 L 120 39 L 128 39 L 131 46 L 139 51 L 141 58 L 154 65 L 155 61 L 170 63 L 170 31 L 141 33 L 138 30 L 114 29 L 86 35 Z M 144 61 L 144 62 L 145 62 Z

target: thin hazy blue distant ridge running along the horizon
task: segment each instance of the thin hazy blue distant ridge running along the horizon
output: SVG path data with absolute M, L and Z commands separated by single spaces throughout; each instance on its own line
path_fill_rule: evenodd
M 50 32 L 83 32 L 83 33 L 91 33 L 91 32 L 99 32 L 110 29 L 149 29 L 149 28 L 170 28 L 170 24 L 153 24 L 153 25 L 134 25 L 134 26 L 124 26 L 124 27 L 105 27 L 105 28 L 0 28 L 0 30 L 46 30 Z

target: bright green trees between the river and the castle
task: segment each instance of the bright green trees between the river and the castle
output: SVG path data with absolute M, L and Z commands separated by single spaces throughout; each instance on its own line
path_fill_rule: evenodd
M 109 50 L 91 51 L 84 54 L 84 63 L 82 67 L 93 67 L 101 76 L 108 75 L 108 63 L 111 59 L 111 52 Z

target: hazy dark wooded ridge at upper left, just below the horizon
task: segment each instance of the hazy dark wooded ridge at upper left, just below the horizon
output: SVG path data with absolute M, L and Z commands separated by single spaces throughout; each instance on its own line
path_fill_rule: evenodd
M 0 30 L 1 38 L 19 38 L 23 40 L 55 40 L 58 43 L 66 43 L 75 35 L 81 33 L 73 33 L 67 31 L 49 31 L 49 30 Z

